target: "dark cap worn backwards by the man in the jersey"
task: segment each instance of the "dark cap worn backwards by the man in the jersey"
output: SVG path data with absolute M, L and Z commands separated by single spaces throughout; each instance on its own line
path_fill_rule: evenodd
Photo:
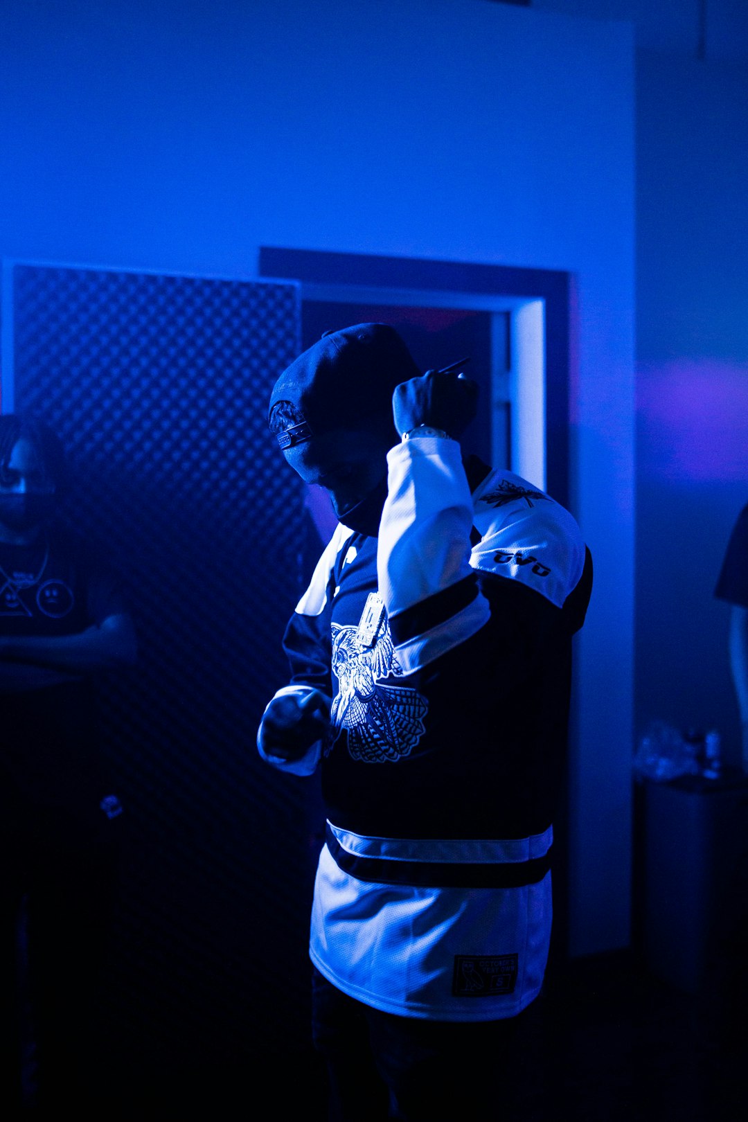
M 364 429 L 393 415 L 395 387 L 421 370 L 388 323 L 355 323 L 330 331 L 286 367 L 270 394 L 269 411 L 290 402 L 304 417 L 278 433 L 280 448 L 332 429 Z

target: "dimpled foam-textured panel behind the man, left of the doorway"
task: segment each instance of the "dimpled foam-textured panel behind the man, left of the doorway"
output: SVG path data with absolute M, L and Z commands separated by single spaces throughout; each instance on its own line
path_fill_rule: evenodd
M 265 420 L 297 291 L 16 265 L 12 294 L 16 410 L 71 450 L 68 519 L 140 642 L 100 690 L 129 820 L 110 1017 L 144 1065 L 240 1061 L 306 1031 L 308 799 L 253 743 L 310 533 Z

